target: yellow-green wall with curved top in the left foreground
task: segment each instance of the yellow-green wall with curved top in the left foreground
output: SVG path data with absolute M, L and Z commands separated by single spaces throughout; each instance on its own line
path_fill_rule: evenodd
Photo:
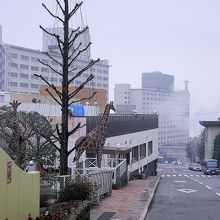
M 40 214 L 40 173 L 26 173 L 0 148 L 0 219 L 26 220 Z

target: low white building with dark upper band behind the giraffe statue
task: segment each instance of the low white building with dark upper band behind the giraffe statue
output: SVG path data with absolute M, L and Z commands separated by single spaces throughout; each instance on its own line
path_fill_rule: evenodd
M 86 133 L 95 127 L 100 117 L 87 117 Z M 105 137 L 103 158 L 113 158 L 119 153 L 120 158 L 127 159 L 129 173 L 141 173 L 147 169 L 148 175 L 156 175 L 157 115 L 110 115 Z M 91 156 L 90 152 L 87 152 L 88 156 Z

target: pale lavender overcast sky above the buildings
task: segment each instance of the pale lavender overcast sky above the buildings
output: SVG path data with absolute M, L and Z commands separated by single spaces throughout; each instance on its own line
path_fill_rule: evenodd
M 73 0 L 75 1 L 75 0 Z M 43 1 L 55 10 L 55 0 Z M 41 49 L 39 24 L 53 19 L 42 0 L 1 2 L 3 41 Z M 189 80 L 191 135 L 199 120 L 220 116 L 219 0 L 85 0 L 83 16 L 90 27 L 92 56 L 108 59 L 110 98 L 115 83 L 141 86 L 141 73 L 162 71 L 175 76 L 175 88 Z M 86 12 L 86 13 L 85 13 Z

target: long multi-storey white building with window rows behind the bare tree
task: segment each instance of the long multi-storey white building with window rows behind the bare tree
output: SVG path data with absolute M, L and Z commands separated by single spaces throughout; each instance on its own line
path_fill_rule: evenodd
M 51 31 L 51 29 L 48 29 Z M 55 29 L 55 32 L 62 32 L 60 28 Z M 71 29 L 70 29 L 71 33 Z M 50 36 L 51 37 L 51 36 Z M 43 51 L 47 51 L 61 61 L 61 55 L 55 47 L 55 42 L 50 37 L 46 37 L 43 34 Z M 83 44 L 89 41 L 88 31 L 81 36 Z M 62 72 L 61 66 L 56 62 L 49 59 L 40 50 L 34 50 L 30 48 L 24 48 L 11 44 L 6 44 L 1 41 L 2 32 L 0 28 L 0 91 L 7 91 L 12 93 L 23 94 L 39 94 L 41 85 L 45 83 L 36 77 L 34 74 L 41 74 L 50 83 L 55 86 L 62 85 L 61 76 L 56 74 L 50 68 L 39 63 L 38 59 L 42 62 L 50 64 L 55 70 Z M 73 45 L 75 48 L 76 45 Z M 76 68 L 76 70 L 69 73 L 69 77 L 85 67 L 90 61 L 91 56 L 89 50 L 85 51 L 70 68 Z M 92 68 L 84 72 L 80 77 L 71 83 L 71 86 L 79 86 L 85 81 L 89 74 L 93 73 L 95 78 L 90 81 L 86 87 L 93 89 L 106 90 L 107 99 L 109 92 L 109 65 L 108 60 L 100 60 Z

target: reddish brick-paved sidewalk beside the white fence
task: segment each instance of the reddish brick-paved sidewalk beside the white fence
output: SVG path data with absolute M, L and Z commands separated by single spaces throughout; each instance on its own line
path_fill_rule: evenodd
M 90 211 L 91 220 L 96 220 L 104 212 L 115 212 L 111 219 L 126 220 L 134 211 L 142 191 L 148 187 L 152 177 L 146 180 L 132 180 L 127 186 L 112 190 L 112 195 L 101 200 L 100 206 Z

